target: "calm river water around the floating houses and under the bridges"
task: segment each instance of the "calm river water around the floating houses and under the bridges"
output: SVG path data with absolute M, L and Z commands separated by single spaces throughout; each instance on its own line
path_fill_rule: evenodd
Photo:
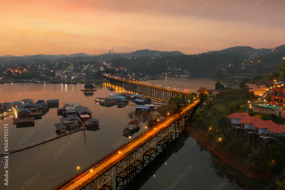
M 168 80 L 153 80 L 152 85 L 173 86 L 177 78 Z M 149 81 L 148 81 L 149 82 Z M 180 83 L 180 88 L 195 92 L 201 86 L 214 88 L 216 81 L 189 80 Z M 102 83 L 100 83 L 102 85 Z M 103 85 L 109 85 L 103 83 Z M 177 84 L 176 84 L 177 85 Z M 122 136 L 123 127 L 133 119 L 142 121 L 142 128 L 131 138 L 145 130 L 148 118 L 134 115 L 135 105 L 131 103 L 125 108 L 117 106 L 103 107 L 94 102 L 96 97 L 106 97 L 110 94 L 130 92 L 122 87 L 114 86 L 115 92 L 105 87 L 97 87 L 92 94 L 80 91 L 82 84 L 35 84 L 12 83 L 0 84 L 0 102 L 19 101 L 23 99 L 50 100 L 59 99 L 60 107 L 65 102 L 80 102 L 92 112 L 92 118 L 100 121 L 99 130 L 85 130 L 58 140 L 34 147 L 32 149 L 9 155 L 9 186 L 3 182 L 4 163 L 0 157 L 0 189 L 52 189 L 79 170 L 91 165 L 104 157 L 118 146 L 128 142 L 129 138 Z M 226 86 L 226 84 L 225 84 Z M 236 84 L 229 84 L 235 88 Z M 185 90 L 184 89 L 184 90 Z M 182 91 L 182 90 L 181 90 Z M 152 113 L 155 118 L 155 113 Z M 4 150 L 4 124 L 9 124 L 9 148 L 26 145 L 44 138 L 56 135 L 54 124 L 59 123 L 56 108 L 51 108 L 36 127 L 16 128 L 13 117 L 0 120 L 0 151 Z M 68 144 L 68 147 L 62 148 Z M 62 149 L 64 151 L 59 151 Z M 212 155 L 205 147 L 188 134 L 181 135 L 181 140 L 173 142 L 166 156 L 158 157 L 155 164 L 143 171 L 125 189 L 215 189 L 217 185 L 224 189 L 262 189 L 264 183 L 253 181 L 225 165 L 213 165 Z M 186 171 L 190 172 L 186 172 Z M 113 170 L 114 172 L 115 170 Z M 185 172 L 185 173 L 184 173 Z M 187 175 L 181 175 L 181 173 Z M 113 174 L 115 176 L 115 174 Z M 115 177 L 114 177 L 115 179 Z M 227 180 L 225 180 L 227 179 Z M 221 187 L 220 186 L 220 187 Z M 116 189 L 116 188 L 114 188 Z

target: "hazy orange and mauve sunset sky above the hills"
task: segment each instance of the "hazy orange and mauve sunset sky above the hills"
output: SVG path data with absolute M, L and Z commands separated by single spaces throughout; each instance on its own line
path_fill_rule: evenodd
M 284 5 L 284 0 L 1 0 L 0 56 L 276 48 L 285 44 Z

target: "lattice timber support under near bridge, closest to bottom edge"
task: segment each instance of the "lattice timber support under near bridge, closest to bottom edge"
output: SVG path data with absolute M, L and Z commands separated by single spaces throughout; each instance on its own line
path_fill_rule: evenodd
M 89 190 L 109 190 L 113 188 L 113 171 L 112 168 L 95 179 L 93 183 L 89 184 Z

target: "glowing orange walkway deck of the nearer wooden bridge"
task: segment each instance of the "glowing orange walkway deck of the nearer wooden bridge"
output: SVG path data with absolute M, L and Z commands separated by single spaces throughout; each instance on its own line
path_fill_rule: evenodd
M 182 108 L 183 112 L 182 114 L 188 112 L 195 106 L 199 104 L 200 100 L 196 100 L 195 102 L 192 102 L 184 108 Z M 156 136 L 160 131 L 165 129 L 167 126 L 169 126 L 172 122 L 177 120 L 178 118 L 176 116 L 171 116 L 166 119 L 164 119 L 160 124 L 156 125 L 155 128 L 150 128 L 146 133 L 144 133 L 142 136 L 140 136 L 137 140 L 129 143 L 127 146 L 123 147 L 122 149 L 117 149 L 112 155 L 95 165 L 94 167 L 91 167 L 86 172 L 82 173 L 80 176 L 75 176 L 74 179 L 70 180 L 69 183 L 61 187 L 60 189 L 64 190 L 71 190 L 71 189 L 81 189 L 84 186 L 86 186 L 88 183 L 90 183 L 92 180 L 96 179 L 106 171 L 108 171 L 110 168 L 112 168 L 115 164 L 117 164 L 119 161 L 121 161 L 123 158 L 125 158 L 127 155 L 129 155 L 131 152 L 135 151 L 138 147 L 141 147 L 144 143 L 146 143 L 148 140 Z M 119 153 L 120 152 L 120 153 Z M 91 170 L 93 170 L 91 172 Z M 54 188 L 58 189 L 58 188 Z

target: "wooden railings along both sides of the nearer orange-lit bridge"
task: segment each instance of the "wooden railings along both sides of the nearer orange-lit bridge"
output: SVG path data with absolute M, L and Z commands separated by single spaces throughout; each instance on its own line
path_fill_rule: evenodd
M 198 99 L 198 100 L 199 100 L 199 99 Z M 196 100 L 196 101 L 197 101 L 197 100 Z M 195 101 L 195 102 L 196 102 L 196 101 Z M 200 100 L 199 100 L 199 101 L 200 101 Z M 191 102 L 191 103 L 194 103 L 194 101 Z M 191 103 L 190 103 L 190 104 L 191 104 Z M 190 104 L 187 104 L 187 105 L 183 106 L 181 109 L 186 108 L 186 107 L 189 106 Z M 186 113 L 186 111 L 184 111 L 184 113 Z M 95 166 L 98 165 L 100 162 L 102 162 L 103 160 L 107 159 L 108 157 L 110 157 L 110 156 L 113 155 L 114 153 L 118 152 L 119 150 L 121 150 L 121 149 L 127 147 L 127 145 L 129 145 L 129 144 L 133 143 L 134 141 L 136 141 L 137 139 L 141 138 L 141 136 L 145 135 L 146 133 L 149 133 L 151 129 L 156 128 L 157 126 L 159 126 L 161 123 L 165 122 L 165 121 L 168 120 L 168 119 L 169 119 L 169 117 L 164 118 L 163 120 L 160 120 L 158 123 L 156 123 L 154 126 L 152 126 L 151 128 L 149 128 L 148 130 L 146 130 L 146 131 L 144 131 L 143 133 L 139 134 L 138 136 L 136 136 L 135 138 L 133 138 L 133 139 L 130 140 L 129 142 L 127 142 L 127 143 L 123 144 L 122 146 L 118 147 L 117 149 L 115 149 L 115 150 L 112 151 L 111 153 L 107 154 L 105 157 L 103 157 L 103 158 L 99 159 L 98 161 L 94 162 L 93 164 L 89 165 L 89 166 L 86 167 L 84 170 L 82 170 L 82 171 L 78 172 L 77 174 L 73 175 L 72 177 L 68 178 L 66 181 L 62 182 L 61 184 L 59 184 L 58 186 L 54 187 L 54 188 L 51 189 L 51 190 L 56 190 L 56 189 L 59 189 L 60 187 L 63 187 L 63 186 L 66 185 L 67 183 L 73 183 L 73 182 L 75 182 L 75 181 L 76 181 L 76 178 L 78 178 L 78 177 L 80 178 L 80 177 L 83 177 L 84 175 L 86 175 L 86 174 L 85 174 L 86 171 L 88 171 L 88 170 L 91 169 L 92 167 L 95 167 Z M 178 119 L 178 116 L 177 116 L 174 120 L 172 120 L 172 122 L 174 122 L 174 121 L 177 120 L 177 119 Z M 170 123 L 168 123 L 168 124 L 170 124 Z M 162 129 L 162 130 L 163 130 L 163 129 Z M 161 131 L 161 130 L 158 130 L 158 132 L 160 132 L 160 131 Z M 152 139 L 152 138 L 153 138 L 154 136 L 156 136 L 156 135 L 157 135 L 157 133 L 153 134 L 152 136 L 150 136 L 149 138 L 147 138 L 146 141 Z M 87 183 L 87 185 L 88 185 L 89 183 L 91 183 L 91 181 L 93 181 L 94 179 L 96 179 L 96 178 L 99 177 L 100 175 L 104 174 L 104 173 L 110 168 L 111 165 L 114 165 L 114 163 L 117 162 L 117 160 L 121 160 L 122 158 L 125 158 L 127 155 L 129 155 L 130 152 L 133 152 L 133 151 L 136 150 L 137 148 L 141 147 L 143 144 L 144 144 L 144 142 L 140 142 L 139 145 L 137 145 L 133 150 L 129 150 L 127 153 L 124 154 L 123 157 L 120 157 L 120 158 L 116 159 L 115 161 L 113 161 L 112 163 L 110 163 L 108 166 L 104 167 L 104 169 L 103 169 L 101 172 L 99 172 L 98 174 L 94 175 L 94 177 L 92 177 L 92 179 L 89 179 L 87 182 L 84 182 L 82 185 L 80 185 L 80 187 L 81 187 L 81 186 L 85 187 L 85 186 L 86 186 L 86 183 Z M 79 188 L 79 187 L 78 187 L 78 188 Z

